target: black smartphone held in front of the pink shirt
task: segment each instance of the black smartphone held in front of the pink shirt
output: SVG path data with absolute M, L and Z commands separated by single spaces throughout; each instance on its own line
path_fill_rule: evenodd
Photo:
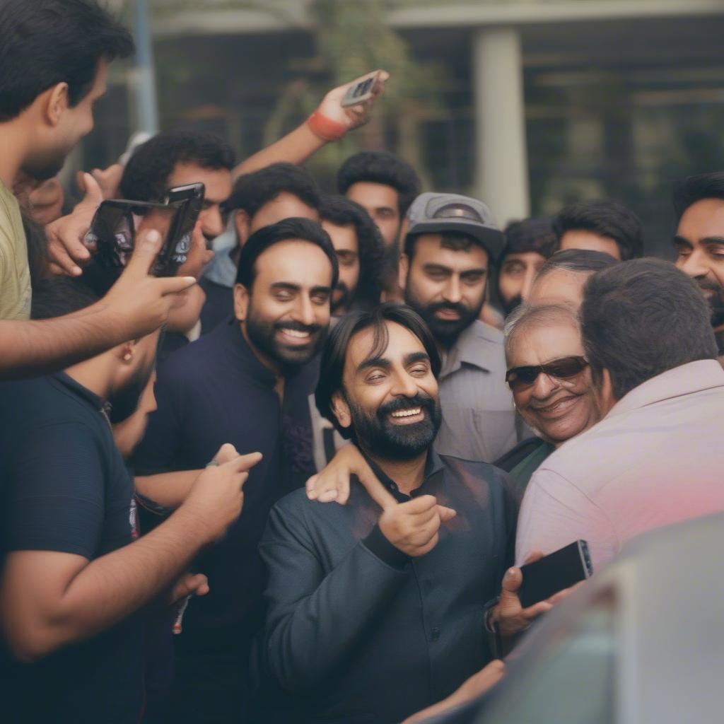
M 518 598 L 523 608 L 527 608 L 590 578 L 593 568 L 588 544 L 575 541 L 534 563 L 521 565 L 521 572 L 523 584 Z

